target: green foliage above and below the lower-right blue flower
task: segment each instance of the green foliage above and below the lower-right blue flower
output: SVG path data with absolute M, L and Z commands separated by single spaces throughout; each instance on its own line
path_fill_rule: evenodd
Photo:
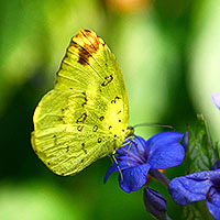
M 204 116 L 197 116 L 194 130 L 189 127 L 189 142 L 186 154 L 186 174 L 211 169 L 215 162 L 219 160 L 218 147 L 213 145 L 207 121 Z M 183 207 L 184 219 L 209 220 L 213 219 L 209 213 L 206 201 L 198 201 Z

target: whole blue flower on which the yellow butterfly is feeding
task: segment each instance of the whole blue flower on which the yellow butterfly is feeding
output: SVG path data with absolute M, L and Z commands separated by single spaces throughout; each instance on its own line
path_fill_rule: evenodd
M 162 132 L 147 141 L 131 136 L 117 151 L 118 165 L 114 162 L 110 166 L 105 183 L 112 172 L 120 168 L 119 184 L 124 191 L 141 188 L 146 183 L 150 169 L 165 169 L 183 163 L 185 150 L 179 144 L 183 136 L 179 132 Z

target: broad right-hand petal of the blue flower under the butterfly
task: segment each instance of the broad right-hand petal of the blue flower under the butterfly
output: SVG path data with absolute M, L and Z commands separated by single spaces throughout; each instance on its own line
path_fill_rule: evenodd
M 164 169 L 183 163 L 185 150 L 179 144 L 183 133 L 162 132 L 146 141 L 150 148 L 147 163 L 154 169 Z

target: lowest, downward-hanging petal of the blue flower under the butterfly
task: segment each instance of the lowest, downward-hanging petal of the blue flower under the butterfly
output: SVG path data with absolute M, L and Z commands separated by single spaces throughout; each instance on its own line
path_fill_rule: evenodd
M 123 180 L 119 175 L 120 187 L 127 193 L 141 188 L 146 183 L 150 167 L 150 164 L 141 164 L 122 170 Z

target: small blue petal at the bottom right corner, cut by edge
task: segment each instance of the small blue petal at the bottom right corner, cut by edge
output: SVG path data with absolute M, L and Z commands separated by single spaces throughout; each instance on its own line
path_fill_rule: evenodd
M 211 202 L 207 200 L 207 207 L 216 220 L 220 220 L 220 193 L 215 187 L 209 191 Z

